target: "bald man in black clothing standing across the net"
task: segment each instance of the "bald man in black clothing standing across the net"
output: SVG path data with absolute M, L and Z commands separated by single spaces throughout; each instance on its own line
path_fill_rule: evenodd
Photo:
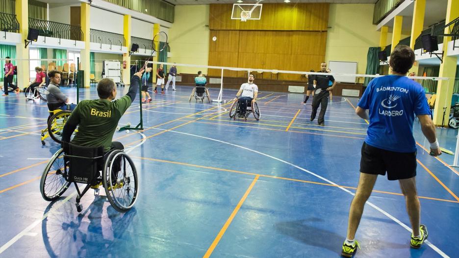
M 318 72 L 326 73 L 327 63 L 321 63 L 320 68 L 321 70 Z M 330 81 L 333 82 L 332 87 L 329 87 Z M 330 95 L 329 92 L 333 90 L 334 86 L 336 85 L 336 81 L 334 80 L 332 75 L 315 75 L 314 85 L 316 86 L 316 88 L 315 94 L 312 97 L 311 121 L 314 120 L 315 116 L 317 115 L 317 109 L 319 108 L 319 105 L 321 105 L 319 118 L 317 119 L 317 122 L 319 123 L 319 125 L 324 126 L 325 111 L 327 111 L 328 97 Z M 320 93 L 318 93 L 318 89 L 320 89 Z

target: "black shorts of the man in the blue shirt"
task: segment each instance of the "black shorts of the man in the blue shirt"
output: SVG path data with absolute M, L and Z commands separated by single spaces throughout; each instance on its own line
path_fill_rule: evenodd
M 387 179 L 399 180 L 416 176 L 416 152 L 395 152 L 373 147 L 363 142 L 360 172 L 385 175 Z

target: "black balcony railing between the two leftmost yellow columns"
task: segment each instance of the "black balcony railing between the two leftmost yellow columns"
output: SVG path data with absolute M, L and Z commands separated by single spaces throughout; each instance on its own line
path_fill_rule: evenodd
M 35 18 L 29 18 L 29 27 L 38 29 L 39 36 L 58 39 L 79 40 L 83 39 L 83 32 L 80 26 L 56 23 Z

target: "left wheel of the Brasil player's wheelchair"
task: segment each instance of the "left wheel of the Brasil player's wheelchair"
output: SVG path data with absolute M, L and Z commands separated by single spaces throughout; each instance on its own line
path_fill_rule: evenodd
M 64 149 L 61 148 L 52 155 L 40 180 L 40 192 L 47 201 L 59 198 L 70 186 L 70 182 L 66 180 L 63 152 Z

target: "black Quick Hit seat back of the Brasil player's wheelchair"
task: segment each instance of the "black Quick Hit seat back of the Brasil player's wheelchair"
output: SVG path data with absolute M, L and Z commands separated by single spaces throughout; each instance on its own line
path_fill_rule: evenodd
M 69 182 L 92 184 L 102 168 L 103 148 L 84 147 L 63 142 L 64 161 L 69 163 Z M 67 166 L 65 166 L 67 169 Z

